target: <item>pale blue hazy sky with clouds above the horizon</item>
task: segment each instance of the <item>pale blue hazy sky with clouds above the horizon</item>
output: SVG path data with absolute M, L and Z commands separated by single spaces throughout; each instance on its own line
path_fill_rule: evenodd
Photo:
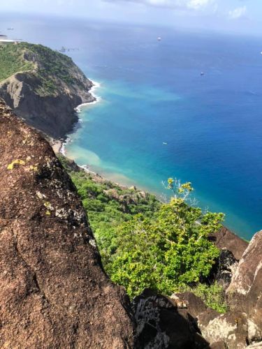
M 262 33 L 262 0 L 8 0 L 0 11 Z

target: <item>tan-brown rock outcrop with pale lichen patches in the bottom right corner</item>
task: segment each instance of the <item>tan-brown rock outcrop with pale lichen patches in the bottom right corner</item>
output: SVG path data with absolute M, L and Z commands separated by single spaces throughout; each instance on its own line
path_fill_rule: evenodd
M 228 313 L 194 312 L 203 337 L 211 348 L 262 348 L 262 231 L 242 253 L 226 295 Z M 196 309 L 194 301 L 189 301 L 189 311 L 190 306 Z

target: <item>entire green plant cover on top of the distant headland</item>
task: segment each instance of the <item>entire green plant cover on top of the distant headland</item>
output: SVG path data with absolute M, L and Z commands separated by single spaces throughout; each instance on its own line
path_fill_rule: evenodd
M 40 96 L 56 94 L 61 83 L 81 84 L 75 80 L 72 59 L 43 45 L 1 45 L 0 62 L 0 81 L 15 73 L 29 71 L 29 77 L 38 80 L 36 91 Z

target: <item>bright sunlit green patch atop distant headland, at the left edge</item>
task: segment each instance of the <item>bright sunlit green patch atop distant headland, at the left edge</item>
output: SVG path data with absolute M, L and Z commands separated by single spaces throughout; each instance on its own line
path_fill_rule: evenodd
M 24 48 L 20 45 L 0 45 L 0 81 L 11 75 L 33 70 L 34 64 L 24 59 Z

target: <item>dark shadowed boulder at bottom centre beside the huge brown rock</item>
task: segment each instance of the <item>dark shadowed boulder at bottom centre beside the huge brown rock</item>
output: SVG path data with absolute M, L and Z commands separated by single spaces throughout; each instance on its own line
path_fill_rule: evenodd
M 132 303 L 137 322 L 137 348 L 209 348 L 194 319 L 177 306 L 177 300 L 145 290 Z

